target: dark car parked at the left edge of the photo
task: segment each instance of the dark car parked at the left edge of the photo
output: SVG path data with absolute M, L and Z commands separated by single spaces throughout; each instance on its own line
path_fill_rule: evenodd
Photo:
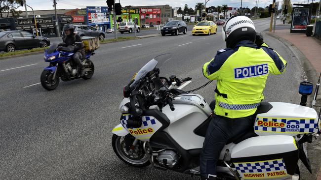
M 0 32 L 0 51 L 14 52 L 18 49 L 47 47 L 50 40 L 47 37 L 35 36 L 22 30 Z

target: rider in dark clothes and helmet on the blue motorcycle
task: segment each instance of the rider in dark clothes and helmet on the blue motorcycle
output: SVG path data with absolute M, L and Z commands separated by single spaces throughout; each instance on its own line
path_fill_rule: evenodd
M 63 28 L 65 36 L 62 38 L 66 46 L 72 48 L 75 52 L 73 60 L 78 66 L 79 76 L 84 75 L 84 68 L 81 63 L 81 59 L 85 56 L 84 45 L 81 41 L 81 37 L 74 32 L 74 26 L 72 24 L 66 24 Z

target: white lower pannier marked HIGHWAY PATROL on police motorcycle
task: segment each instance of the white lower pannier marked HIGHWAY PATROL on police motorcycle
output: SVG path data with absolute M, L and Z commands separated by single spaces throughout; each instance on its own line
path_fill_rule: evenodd
M 237 144 L 231 161 L 245 180 L 284 180 L 295 174 L 299 150 L 292 136 L 252 137 Z

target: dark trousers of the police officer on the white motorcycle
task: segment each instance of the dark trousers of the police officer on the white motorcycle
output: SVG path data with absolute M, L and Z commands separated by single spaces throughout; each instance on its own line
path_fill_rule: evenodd
M 201 150 L 201 176 L 216 175 L 216 164 L 225 144 L 233 137 L 251 130 L 253 116 L 230 119 L 215 115 L 208 126 L 203 148 Z

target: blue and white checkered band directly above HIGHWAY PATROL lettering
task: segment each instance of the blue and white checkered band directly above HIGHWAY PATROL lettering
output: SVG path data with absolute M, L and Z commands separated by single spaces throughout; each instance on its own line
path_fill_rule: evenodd
M 286 167 L 283 159 L 275 159 L 260 162 L 234 163 L 235 168 L 241 173 L 265 173 L 275 171 L 285 171 Z

